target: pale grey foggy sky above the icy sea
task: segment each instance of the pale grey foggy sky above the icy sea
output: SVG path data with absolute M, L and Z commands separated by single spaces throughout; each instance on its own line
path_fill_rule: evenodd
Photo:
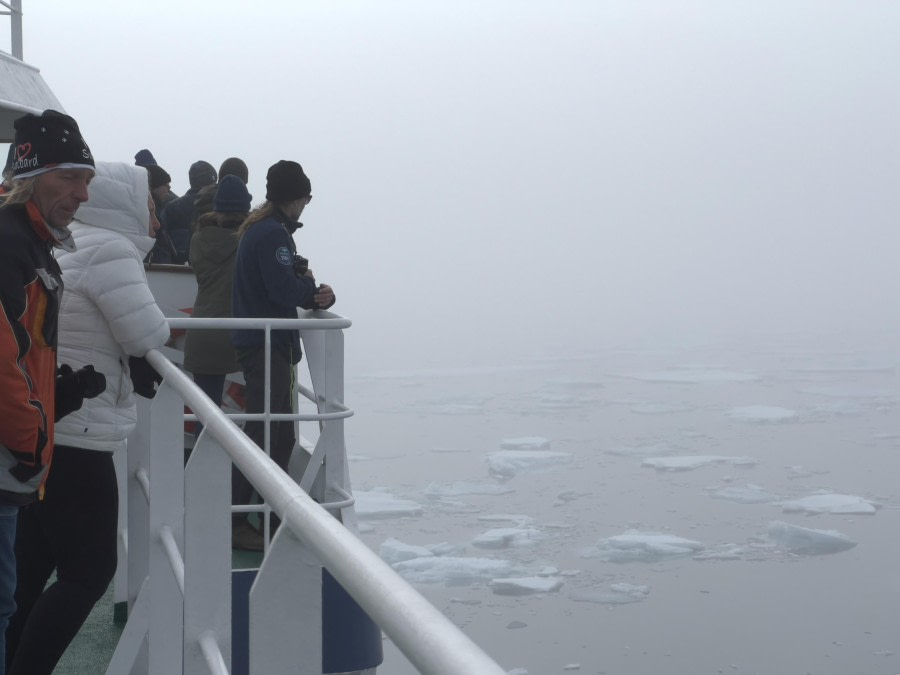
M 896 331 L 900 3 L 25 0 L 96 157 L 294 159 L 369 370 Z

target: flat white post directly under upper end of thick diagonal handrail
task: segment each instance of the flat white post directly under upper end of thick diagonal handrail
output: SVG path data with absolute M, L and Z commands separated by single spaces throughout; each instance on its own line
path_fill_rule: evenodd
M 160 539 L 171 529 L 184 555 L 184 403 L 162 386 L 151 406 L 150 424 L 150 674 L 172 675 L 183 668 L 184 597 Z M 174 420 L 179 423 L 173 424 Z

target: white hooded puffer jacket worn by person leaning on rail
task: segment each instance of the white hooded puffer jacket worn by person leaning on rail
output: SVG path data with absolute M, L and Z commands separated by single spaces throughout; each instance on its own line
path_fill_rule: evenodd
M 57 254 L 65 284 L 58 360 L 74 370 L 93 365 L 106 391 L 56 423 L 56 443 L 112 452 L 137 421 L 128 357 L 165 344 L 169 326 L 144 272 L 154 242 L 147 171 L 97 162 L 88 193 L 69 227 L 77 250 Z

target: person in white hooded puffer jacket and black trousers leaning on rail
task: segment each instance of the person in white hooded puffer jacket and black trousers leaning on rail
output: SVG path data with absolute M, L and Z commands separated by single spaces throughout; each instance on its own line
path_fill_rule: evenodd
M 139 357 L 169 338 L 142 262 L 159 228 L 146 169 L 97 162 L 90 198 L 77 216 L 70 226 L 77 249 L 59 255 L 66 284 L 59 362 L 74 369 L 94 364 L 107 386 L 57 423 L 44 498 L 20 512 L 9 673 L 49 675 L 112 580 L 118 513 L 112 455 L 137 419 L 129 361 L 149 368 Z M 148 386 L 135 381 L 146 393 Z M 57 580 L 44 590 L 54 570 Z

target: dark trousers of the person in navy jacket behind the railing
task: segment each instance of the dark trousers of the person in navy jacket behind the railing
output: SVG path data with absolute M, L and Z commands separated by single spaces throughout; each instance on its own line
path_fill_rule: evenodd
M 248 413 L 265 412 L 265 366 L 266 355 L 263 347 L 238 349 L 238 361 L 244 370 L 246 382 L 246 402 Z M 270 412 L 293 412 L 294 365 L 291 355 L 272 347 Z M 275 463 L 287 471 L 294 450 L 296 437 L 293 422 L 270 422 L 269 454 Z M 244 432 L 260 448 L 265 447 L 265 422 L 247 422 Z M 253 495 L 253 486 L 237 467 L 231 473 L 231 503 L 249 504 Z M 246 514 L 236 514 L 242 518 Z

